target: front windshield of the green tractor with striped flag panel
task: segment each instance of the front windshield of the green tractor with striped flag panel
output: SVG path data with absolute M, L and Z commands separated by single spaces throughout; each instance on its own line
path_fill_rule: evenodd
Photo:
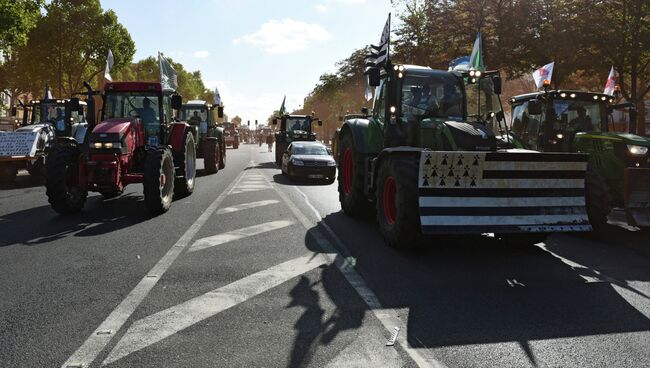
M 452 75 L 410 75 L 402 83 L 402 117 L 405 120 L 443 118 L 462 120 L 461 85 Z

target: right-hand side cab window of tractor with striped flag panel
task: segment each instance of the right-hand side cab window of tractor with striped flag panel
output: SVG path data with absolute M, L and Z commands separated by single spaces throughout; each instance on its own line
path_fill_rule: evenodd
M 467 118 L 469 121 L 494 123 L 492 114 L 501 110 L 499 99 L 494 94 L 492 78 L 480 78 L 478 83 L 467 84 Z

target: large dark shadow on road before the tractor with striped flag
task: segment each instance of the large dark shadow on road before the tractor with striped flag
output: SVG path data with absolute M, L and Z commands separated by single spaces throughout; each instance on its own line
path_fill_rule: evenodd
M 572 250 L 568 236 L 551 236 L 545 246 L 587 267 L 572 266 L 541 246 L 504 245 L 485 236 L 430 237 L 427 247 L 398 251 L 384 244 L 372 221 L 338 212 L 322 222 L 344 242 L 350 252 L 344 257 L 352 257 L 383 307 L 408 310 L 412 347 L 515 342 L 537 366 L 534 340 L 650 331 L 650 320 L 612 283 L 583 278 L 600 274 L 594 272 L 597 262 Z M 314 229 L 325 234 L 321 224 Z M 637 272 L 635 279 L 648 280 L 647 269 Z M 323 285 L 342 307 L 345 301 L 335 298 L 341 284 Z

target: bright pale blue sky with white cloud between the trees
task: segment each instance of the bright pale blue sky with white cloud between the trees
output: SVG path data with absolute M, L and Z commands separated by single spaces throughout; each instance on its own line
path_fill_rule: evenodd
M 266 121 L 302 106 L 325 72 L 379 42 L 390 0 L 102 0 L 135 41 L 134 61 L 158 51 L 200 70 L 230 117 Z

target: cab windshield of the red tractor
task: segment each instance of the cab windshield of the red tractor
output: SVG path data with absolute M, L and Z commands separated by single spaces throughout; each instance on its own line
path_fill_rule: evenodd
M 160 97 L 142 92 L 108 93 L 104 99 L 104 116 L 108 119 L 139 118 L 147 137 L 157 136 L 160 133 Z

